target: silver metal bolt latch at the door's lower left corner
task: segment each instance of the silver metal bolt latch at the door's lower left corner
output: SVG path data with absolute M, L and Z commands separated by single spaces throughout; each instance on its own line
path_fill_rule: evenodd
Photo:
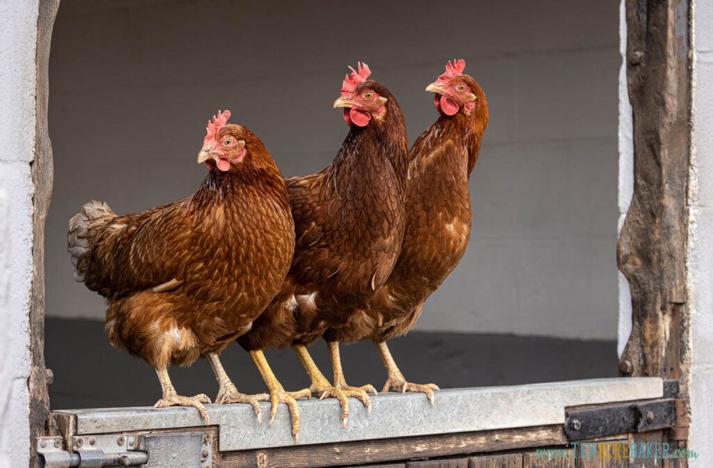
M 210 468 L 210 432 L 180 434 L 97 434 L 72 437 L 68 450 L 61 437 L 37 439 L 44 468 Z

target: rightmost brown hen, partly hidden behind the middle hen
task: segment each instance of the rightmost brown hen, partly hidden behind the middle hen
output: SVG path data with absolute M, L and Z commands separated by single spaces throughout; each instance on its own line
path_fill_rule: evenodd
M 406 182 L 406 233 L 401 254 L 371 308 L 356 314 L 349 327 L 332 328 L 324 337 L 338 342 L 373 340 L 388 372 L 384 390 L 425 392 L 434 404 L 434 384 L 407 382 L 391 357 L 386 340 L 416 325 L 426 299 L 443 283 L 463 257 L 471 233 L 468 178 L 478 159 L 488 126 L 485 93 L 463 74 L 464 60 L 450 61 L 446 72 L 429 84 L 436 93 L 438 119 L 421 133 L 409 155 Z M 332 359 L 339 355 L 332 354 Z M 341 369 L 339 362 L 332 366 Z M 344 375 L 339 377 L 344 385 Z

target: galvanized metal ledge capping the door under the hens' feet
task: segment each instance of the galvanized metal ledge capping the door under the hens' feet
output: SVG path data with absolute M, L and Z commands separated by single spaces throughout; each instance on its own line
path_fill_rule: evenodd
M 436 393 L 435 407 L 431 407 L 423 394 L 384 393 L 372 397 L 371 414 L 366 414 L 366 408 L 358 400 L 349 399 L 347 429 L 342 429 L 336 400 L 303 400 L 299 402 L 299 443 L 325 444 L 564 424 L 565 407 L 648 400 L 662 395 L 663 381 L 659 377 L 441 390 Z M 263 403 L 262 412 L 270 414 L 270 405 Z M 56 413 L 74 416 L 77 435 L 180 429 L 205 424 L 197 409 L 187 407 L 67 409 Z M 267 422 L 258 424 L 250 405 L 209 405 L 208 414 L 210 424 L 218 426 L 221 452 L 294 444 L 285 405 L 280 405 L 272 426 Z

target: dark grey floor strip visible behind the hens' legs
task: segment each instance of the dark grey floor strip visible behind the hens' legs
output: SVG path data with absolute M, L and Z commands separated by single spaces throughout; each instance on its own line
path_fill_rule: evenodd
M 617 375 L 616 342 L 558 340 L 513 335 L 412 332 L 391 342 L 391 352 L 406 379 L 434 382 L 441 388 L 482 387 L 553 382 Z M 331 377 L 327 347 L 311 348 L 314 360 Z M 268 350 L 267 359 L 287 390 L 307 387 L 309 380 L 290 350 Z M 47 367 L 53 409 L 153 405 L 160 397 L 154 370 L 118 352 L 96 320 L 47 319 Z M 247 352 L 232 345 L 222 362 L 238 390 L 257 393 L 264 385 Z M 384 367 L 369 342 L 342 347 L 342 362 L 351 385 L 371 383 L 380 389 Z M 170 370 L 182 395 L 215 397 L 217 383 L 207 363 Z

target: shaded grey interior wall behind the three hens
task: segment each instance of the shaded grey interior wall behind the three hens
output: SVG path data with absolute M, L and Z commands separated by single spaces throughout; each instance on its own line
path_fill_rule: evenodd
M 101 297 L 71 280 L 67 220 L 89 198 L 125 213 L 190 194 L 217 108 L 285 175 L 309 173 L 347 132 L 331 103 L 348 63 L 367 61 L 396 94 L 413 141 L 436 118 L 424 87 L 463 56 L 491 123 L 471 178 L 471 243 L 419 328 L 615 338 L 618 4 L 63 0 L 48 315 L 103 319 Z

